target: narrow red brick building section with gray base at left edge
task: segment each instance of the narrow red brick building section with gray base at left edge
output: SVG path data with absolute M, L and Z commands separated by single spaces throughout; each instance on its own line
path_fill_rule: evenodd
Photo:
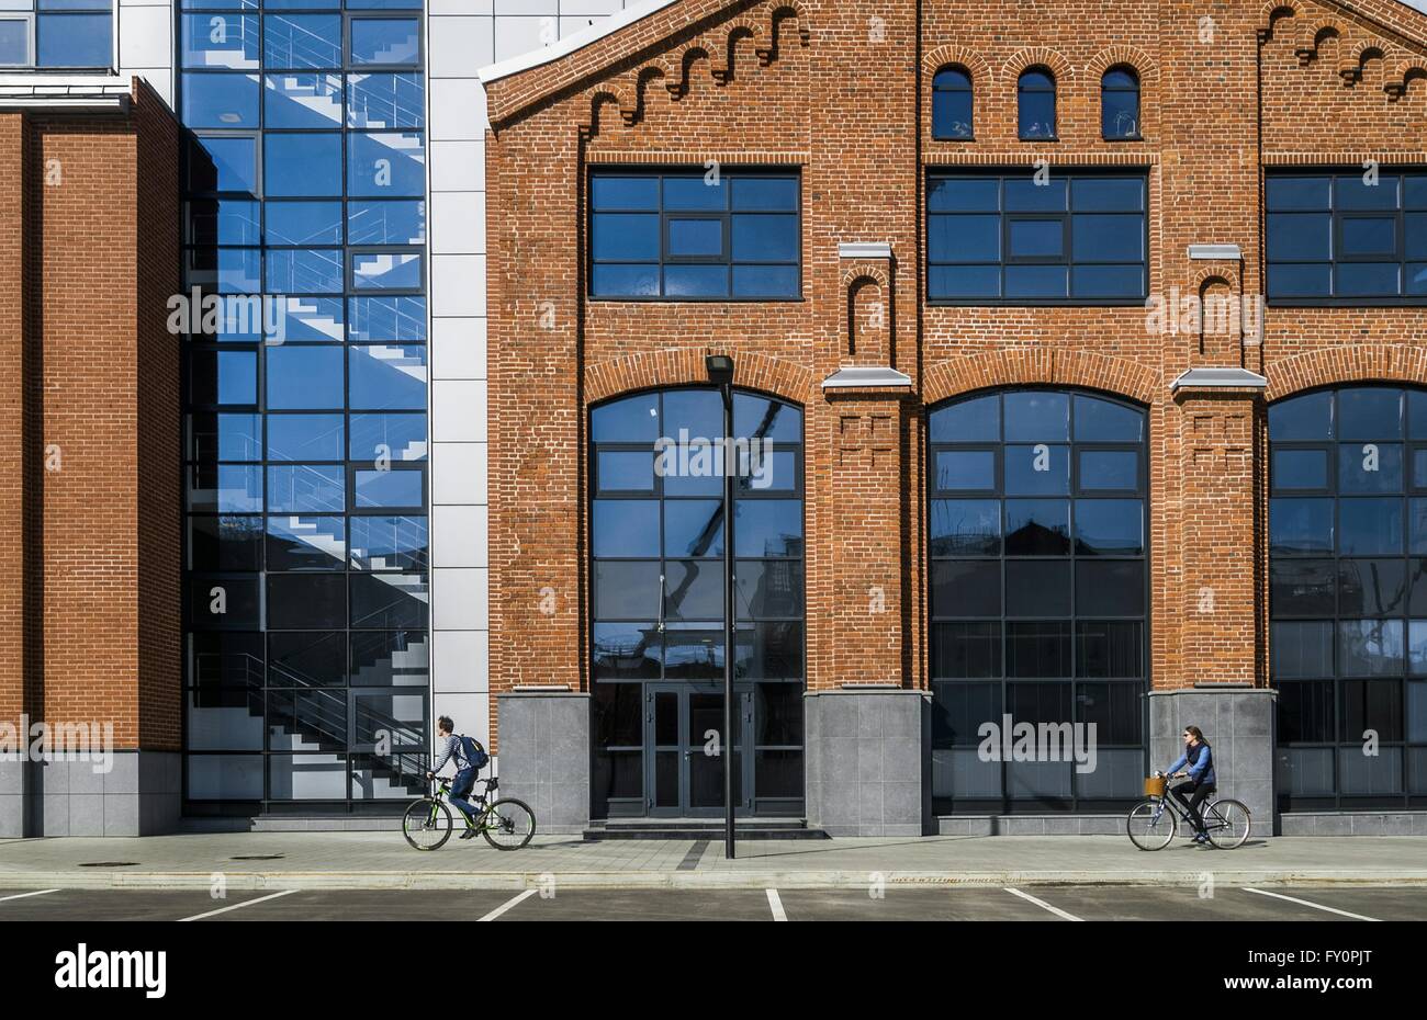
M 181 789 L 178 127 L 137 78 L 11 83 L 0 160 L 0 833 L 161 832 Z M 31 758 L 37 723 L 56 743 Z

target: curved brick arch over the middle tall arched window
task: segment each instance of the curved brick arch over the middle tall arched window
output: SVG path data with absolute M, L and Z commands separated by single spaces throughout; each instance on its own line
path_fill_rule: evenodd
M 926 369 L 922 399 L 939 404 L 973 389 L 1010 385 L 1083 387 L 1153 404 L 1160 391 L 1156 371 L 1124 358 L 1089 351 L 1053 351 L 1030 347 L 950 358 Z

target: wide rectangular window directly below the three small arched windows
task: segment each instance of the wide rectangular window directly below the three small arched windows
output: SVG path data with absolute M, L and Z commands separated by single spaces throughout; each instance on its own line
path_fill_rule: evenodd
M 1146 178 L 928 180 L 928 300 L 943 304 L 1137 304 L 1147 287 Z

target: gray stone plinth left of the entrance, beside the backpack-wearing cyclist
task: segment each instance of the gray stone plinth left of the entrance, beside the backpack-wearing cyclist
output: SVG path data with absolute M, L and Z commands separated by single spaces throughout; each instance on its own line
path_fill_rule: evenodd
M 535 812 L 537 832 L 589 825 L 589 695 L 515 690 L 497 696 L 499 796 Z

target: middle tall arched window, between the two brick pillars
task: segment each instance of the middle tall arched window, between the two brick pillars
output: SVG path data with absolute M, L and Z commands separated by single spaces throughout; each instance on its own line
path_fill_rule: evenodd
M 1144 429 L 1137 407 L 1053 389 L 977 394 L 932 412 L 938 810 L 1093 810 L 1139 796 Z M 1037 740 L 1042 728 L 1060 735 L 1059 758 L 1006 760 L 1019 723 Z M 1093 767 L 1077 766 L 1065 745 L 1085 743 L 1090 723 Z

